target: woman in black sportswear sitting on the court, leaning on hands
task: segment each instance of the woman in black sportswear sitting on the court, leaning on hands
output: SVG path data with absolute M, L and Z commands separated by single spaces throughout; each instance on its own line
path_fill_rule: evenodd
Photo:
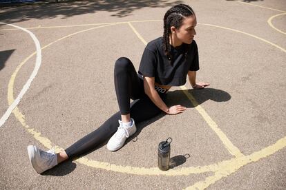
M 193 41 L 196 24 L 196 15 L 189 6 L 180 4 L 170 8 L 164 15 L 164 35 L 146 45 L 138 74 L 127 58 L 120 58 L 115 63 L 115 91 L 120 112 L 58 154 L 28 146 L 30 162 L 37 173 L 94 149 L 112 135 L 107 149 L 117 151 L 126 138 L 135 133 L 135 122 L 140 123 L 162 112 L 184 112 L 186 107 L 181 105 L 166 106 L 166 92 L 172 86 L 184 85 L 187 75 L 193 89 L 209 85 L 196 83 L 196 71 L 199 70 L 198 47 Z M 130 98 L 135 100 L 131 104 Z

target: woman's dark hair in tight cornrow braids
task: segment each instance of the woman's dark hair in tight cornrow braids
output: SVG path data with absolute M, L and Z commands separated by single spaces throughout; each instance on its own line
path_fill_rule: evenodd
M 195 15 L 193 9 L 185 4 L 179 4 L 170 8 L 164 15 L 164 34 L 163 34 L 163 48 L 166 56 L 169 60 L 172 59 L 171 56 L 171 45 L 169 43 L 169 38 L 171 35 L 171 26 L 175 28 L 180 28 L 182 26 L 182 21 L 184 17 L 189 17 Z

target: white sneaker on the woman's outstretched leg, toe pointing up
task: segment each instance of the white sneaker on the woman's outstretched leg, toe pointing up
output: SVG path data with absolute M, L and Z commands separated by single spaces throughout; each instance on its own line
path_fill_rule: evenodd
M 32 167 L 37 173 L 43 173 L 57 165 L 57 155 L 54 150 L 42 151 L 33 145 L 28 146 L 27 150 Z

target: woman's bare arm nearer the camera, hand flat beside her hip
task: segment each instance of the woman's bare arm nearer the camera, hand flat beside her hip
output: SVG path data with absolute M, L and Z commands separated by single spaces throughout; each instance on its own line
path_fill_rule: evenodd
M 158 92 L 155 90 L 155 78 L 144 76 L 144 91 L 147 96 L 153 101 L 153 103 L 162 109 L 166 114 L 180 114 L 186 110 L 186 107 L 181 105 L 173 105 L 172 107 L 167 107 L 162 98 L 159 96 Z

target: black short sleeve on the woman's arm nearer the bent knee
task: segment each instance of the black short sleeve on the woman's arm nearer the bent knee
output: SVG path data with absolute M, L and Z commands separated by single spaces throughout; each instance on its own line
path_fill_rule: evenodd
M 155 77 L 156 56 L 155 53 L 145 47 L 138 73 L 143 76 Z

